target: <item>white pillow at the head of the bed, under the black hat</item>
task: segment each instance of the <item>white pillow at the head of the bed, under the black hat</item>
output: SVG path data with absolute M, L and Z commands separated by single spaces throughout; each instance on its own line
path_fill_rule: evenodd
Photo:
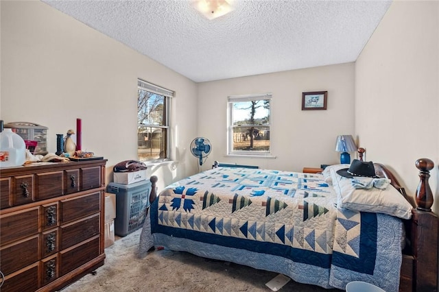
M 412 217 L 412 205 L 391 185 L 384 190 L 354 188 L 351 178 L 344 178 L 335 170 L 331 170 L 331 179 L 337 193 L 337 208 L 383 213 L 402 219 Z

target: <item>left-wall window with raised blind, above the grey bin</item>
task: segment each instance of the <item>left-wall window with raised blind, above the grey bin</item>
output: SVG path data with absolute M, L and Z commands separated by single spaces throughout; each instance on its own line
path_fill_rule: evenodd
M 137 80 L 137 155 L 139 160 L 169 158 L 169 104 L 174 93 Z

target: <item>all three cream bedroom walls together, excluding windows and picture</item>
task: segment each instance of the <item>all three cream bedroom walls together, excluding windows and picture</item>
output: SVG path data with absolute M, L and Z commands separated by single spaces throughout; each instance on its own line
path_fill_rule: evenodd
M 356 134 L 368 160 L 396 169 L 408 193 L 418 184 L 414 161 L 434 160 L 430 183 L 439 204 L 439 32 L 437 1 L 394 1 L 355 64 L 285 71 L 195 84 L 150 58 L 40 1 L 0 1 L 0 119 L 49 127 L 56 134 L 83 123 L 82 145 L 115 163 L 137 158 L 137 77 L 176 90 L 172 156 L 150 168 L 159 186 L 197 171 L 195 136 L 213 143 L 213 160 L 300 171 L 336 163 L 337 134 Z M 328 90 L 328 109 L 302 111 L 304 91 Z M 276 159 L 226 154 L 228 95 L 273 94 Z M 355 99 L 354 99 L 355 95 Z M 436 210 L 439 208 L 436 207 Z

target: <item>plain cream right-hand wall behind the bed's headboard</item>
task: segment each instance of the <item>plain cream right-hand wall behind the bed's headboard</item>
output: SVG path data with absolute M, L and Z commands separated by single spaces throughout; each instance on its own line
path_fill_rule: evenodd
M 394 1 L 355 64 L 355 132 L 366 158 L 391 165 L 407 193 L 418 158 L 434 161 L 439 210 L 439 2 Z

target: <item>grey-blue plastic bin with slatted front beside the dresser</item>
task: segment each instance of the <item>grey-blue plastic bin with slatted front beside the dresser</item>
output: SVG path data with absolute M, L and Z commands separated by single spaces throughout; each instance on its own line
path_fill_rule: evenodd
M 110 182 L 107 192 L 116 194 L 115 234 L 126 236 L 139 229 L 145 221 L 146 208 L 150 206 L 151 182 Z

